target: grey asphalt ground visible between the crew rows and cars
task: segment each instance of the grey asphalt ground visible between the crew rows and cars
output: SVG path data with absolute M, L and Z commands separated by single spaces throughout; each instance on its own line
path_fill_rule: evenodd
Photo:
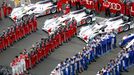
M 38 0 L 34 0 L 32 2 L 35 2 Z M 0 4 L 2 3 L 2 0 L 0 0 Z M 9 1 L 9 3 L 12 2 Z M 38 18 L 38 31 L 35 33 L 32 33 L 28 35 L 26 38 L 20 40 L 19 42 L 15 43 L 12 47 L 7 48 L 4 52 L 0 53 L 0 65 L 9 66 L 12 59 L 18 55 L 22 50 L 31 48 L 32 44 L 35 44 L 37 41 L 39 41 L 42 37 L 46 38 L 48 37 L 47 33 L 43 32 L 41 30 L 43 23 L 46 19 L 52 17 L 52 15 L 47 15 L 44 17 Z M 61 15 L 58 13 L 58 15 Z M 102 15 L 101 15 L 102 16 Z M 104 18 L 98 17 L 97 21 L 100 22 Z M 0 33 L 7 29 L 8 26 L 12 25 L 13 22 L 9 18 L 3 18 L 2 21 L 0 21 Z M 121 38 L 129 33 L 134 33 L 134 29 L 129 30 L 127 32 L 120 33 L 117 36 L 117 40 L 120 41 Z M 118 43 L 118 42 L 117 42 Z M 79 38 L 74 37 L 71 41 L 68 43 L 64 43 L 62 46 L 60 46 L 58 49 L 55 49 L 55 51 L 48 56 L 44 61 L 39 63 L 36 67 L 30 70 L 30 73 L 32 75 L 49 75 L 50 72 L 57 66 L 58 63 L 61 61 L 64 61 L 67 57 L 71 57 L 75 55 L 77 52 L 81 51 L 82 48 L 85 46 L 85 43 L 81 41 Z M 104 65 L 106 65 L 111 58 L 115 58 L 117 56 L 117 53 L 120 51 L 120 48 L 116 48 L 115 50 L 104 54 L 100 58 L 97 59 L 97 62 L 93 62 L 89 65 L 89 68 L 87 71 L 84 71 L 83 73 L 79 75 L 96 75 L 97 71 L 99 71 Z M 134 67 L 129 69 L 129 72 L 123 72 L 122 75 L 134 75 Z

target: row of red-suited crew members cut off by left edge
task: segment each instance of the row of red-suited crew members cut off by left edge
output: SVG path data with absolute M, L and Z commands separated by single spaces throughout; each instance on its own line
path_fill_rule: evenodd
M 22 39 L 31 32 L 37 30 L 37 19 L 32 17 L 28 21 L 22 21 L 8 27 L 8 30 L 4 30 L 0 36 L 0 52 L 5 50 L 7 47 L 12 46 L 13 43 Z

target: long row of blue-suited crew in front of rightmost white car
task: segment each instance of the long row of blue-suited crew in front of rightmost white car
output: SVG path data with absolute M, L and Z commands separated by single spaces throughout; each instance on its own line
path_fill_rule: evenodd
M 87 70 L 90 63 L 96 62 L 97 57 L 114 48 L 116 48 L 116 35 L 113 32 L 98 35 L 83 48 L 82 52 L 59 63 L 51 75 L 77 75 Z

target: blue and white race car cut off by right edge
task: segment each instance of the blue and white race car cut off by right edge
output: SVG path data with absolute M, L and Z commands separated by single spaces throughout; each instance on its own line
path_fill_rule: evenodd
M 124 47 L 127 45 L 128 42 L 132 41 L 134 39 L 134 33 L 126 35 L 122 38 L 121 42 L 119 42 L 120 47 Z

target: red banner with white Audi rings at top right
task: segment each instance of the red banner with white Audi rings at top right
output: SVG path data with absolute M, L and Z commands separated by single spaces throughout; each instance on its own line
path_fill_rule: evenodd
M 82 5 L 97 12 L 105 11 L 105 8 L 109 6 L 111 13 L 120 12 L 134 16 L 134 2 L 124 3 L 124 0 L 82 0 Z

